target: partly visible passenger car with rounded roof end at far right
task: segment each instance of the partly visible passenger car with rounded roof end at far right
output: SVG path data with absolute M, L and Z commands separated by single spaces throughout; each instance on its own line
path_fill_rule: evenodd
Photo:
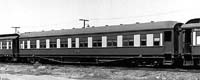
M 184 65 L 200 65 L 200 18 L 191 19 L 182 26 Z

